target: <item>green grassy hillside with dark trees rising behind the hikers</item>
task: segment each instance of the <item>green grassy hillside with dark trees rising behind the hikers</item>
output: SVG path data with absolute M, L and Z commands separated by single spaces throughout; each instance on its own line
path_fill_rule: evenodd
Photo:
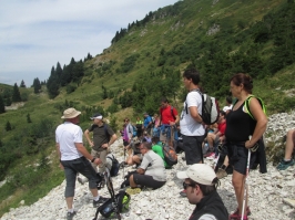
M 124 117 L 134 122 L 144 111 L 155 113 L 162 96 L 181 109 L 185 95 L 181 74 L 195 66 L 202 86 L 221 105 L 228 78 L 245 72 L 254 78 L 254 94 L 265 101 L 268 114 L 294 108 L 295 19 L 289 9 L 294 1 L 179 1 L 138 23 L 130 21 L 110 48 L 80 63 L 83 71 L 77 81 L 55 83 L 60 87 L 54 98 L 49 98 L 44 85 L 38 94 L 20 88 L 24 105 L 0 114 L 0 179 L 7 179 L 0 188 L 0 216 L 22 199 L 26 205 L 37 201 L 63 180 L 54 129 L 67 107 L 82 111 L 82 129 L 94 112 L 121 128 Z M 0 84 L 1 94 L 8 88 L 12 86 Z

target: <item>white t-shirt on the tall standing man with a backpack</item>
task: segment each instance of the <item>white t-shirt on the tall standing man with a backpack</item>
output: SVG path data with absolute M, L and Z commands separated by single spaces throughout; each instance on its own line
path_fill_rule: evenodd
M 186 101 L 183 103 L 183 111 L 181 114 L 181 134 L 185 136 L 202 136 L 205 134 L 205 128 L 197 123 L 190 113 L 190 107 L 196 106 L 197 112 L 202 115 L 202 96 L 199 92 L 192 91 L 186 95 Z M 187 109 L 187 114 L 186 114 Z

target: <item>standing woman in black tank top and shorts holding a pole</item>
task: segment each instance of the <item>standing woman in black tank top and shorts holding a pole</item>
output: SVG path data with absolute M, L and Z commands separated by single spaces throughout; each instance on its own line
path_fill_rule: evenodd
M 237 98 L 237 102 L 233 106 L 232 112 L 226 116 L 225 137 L 228 143 L 228 158 L 234 169 L 232 182 L 238 208 L 230 216 L 230 219 L 241 219 L 248 148 L 260 140 L 267 125 L 267 118 L 256 98 L 250 99 L 250 112 L 254 118 L 245 109 L 244 104 L 252 94 L 252 78 L 246 74 L 238 73 L 231 78 L 231 92 Z M 251 139 L 250 136 L 252 136 Z M 244 208 L 244 219 L 247 219 L 250 212 L 246 207 L 247 198 Z

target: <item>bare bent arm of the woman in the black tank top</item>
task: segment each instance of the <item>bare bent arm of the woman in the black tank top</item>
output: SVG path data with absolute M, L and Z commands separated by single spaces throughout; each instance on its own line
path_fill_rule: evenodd
M 245 143 L 246 148 L 253 147 L 254 144 L 258 142 L 258 139 L 263 136 L 264 132 L 266 130 L 266 125 L 267 125 L 267 117 L 262 111 L 261 104 L 256 98 L 250 99 L 250 111 L 257 123 L 252 139 Z

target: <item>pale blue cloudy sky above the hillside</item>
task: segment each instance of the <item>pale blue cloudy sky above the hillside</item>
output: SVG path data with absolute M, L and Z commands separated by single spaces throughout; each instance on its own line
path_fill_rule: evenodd
M 48 80 L 51 67 L 102 53 L 121 28 L 179 0 L 0 0 L 0 83 Z

